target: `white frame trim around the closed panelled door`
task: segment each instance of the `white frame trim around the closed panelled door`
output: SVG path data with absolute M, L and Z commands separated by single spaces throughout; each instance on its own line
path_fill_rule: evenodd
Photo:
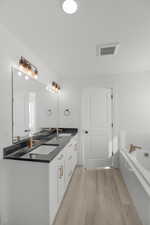
M 83 128 L 83 107 L 84 107 L 84 104 L 83 104 L 83 101 L 84 101 L 84 91 L 87 90 L 87 89 L 90 89 L 90 88 L 99 88 L 99 89 L 109 89 L 111 91 L 111 122 L 112 122 L 112 132 L 111 132 L 111 140 L 112 140 L 112 159 L 111 159 L 111 167 L 114 166 L 114 163 L 113 163 L 113 155 L 114 155 L 114 152 L 113 152 L 113 137 L 114 137 L 114 89 L 113 88 L 110 88 L 110 87 L 87 87 L 87 88 L 84 88 L 83 91 L 82 91 L 82 98 L 81 98 L 81 157 L 82 157 L 82 165 L 84 168 L 85 165 L 86 165 L 86 162 L 85 162 L 85 148 L 84 148 L 84 128 Z

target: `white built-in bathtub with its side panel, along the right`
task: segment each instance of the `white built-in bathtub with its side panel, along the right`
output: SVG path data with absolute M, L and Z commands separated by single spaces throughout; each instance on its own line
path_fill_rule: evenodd
M 120 151 L 120 171 L 143 225 L 150 225 L 150 151 Z

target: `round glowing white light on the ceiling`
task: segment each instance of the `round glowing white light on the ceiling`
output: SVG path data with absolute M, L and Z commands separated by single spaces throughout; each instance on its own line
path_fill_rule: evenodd
M 62 8 L 65 13 L 74 14 L 78 10 L 78 4 L 75 0 L 65 0 Z

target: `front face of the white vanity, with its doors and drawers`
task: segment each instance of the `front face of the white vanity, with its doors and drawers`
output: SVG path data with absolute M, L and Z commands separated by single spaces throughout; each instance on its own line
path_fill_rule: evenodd
M 73 137 L 67 146 L 50 163 L 50 220 L 54 221 L 58 208 L 67 190 L 69 181 L 77 165 L 78 141 Z

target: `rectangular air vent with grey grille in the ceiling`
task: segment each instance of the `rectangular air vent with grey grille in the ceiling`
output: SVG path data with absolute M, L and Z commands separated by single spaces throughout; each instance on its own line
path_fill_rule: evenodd
M 96 46 L 96 56 L 115 55 L 117 53 L 119 44 L 105 44 Z

